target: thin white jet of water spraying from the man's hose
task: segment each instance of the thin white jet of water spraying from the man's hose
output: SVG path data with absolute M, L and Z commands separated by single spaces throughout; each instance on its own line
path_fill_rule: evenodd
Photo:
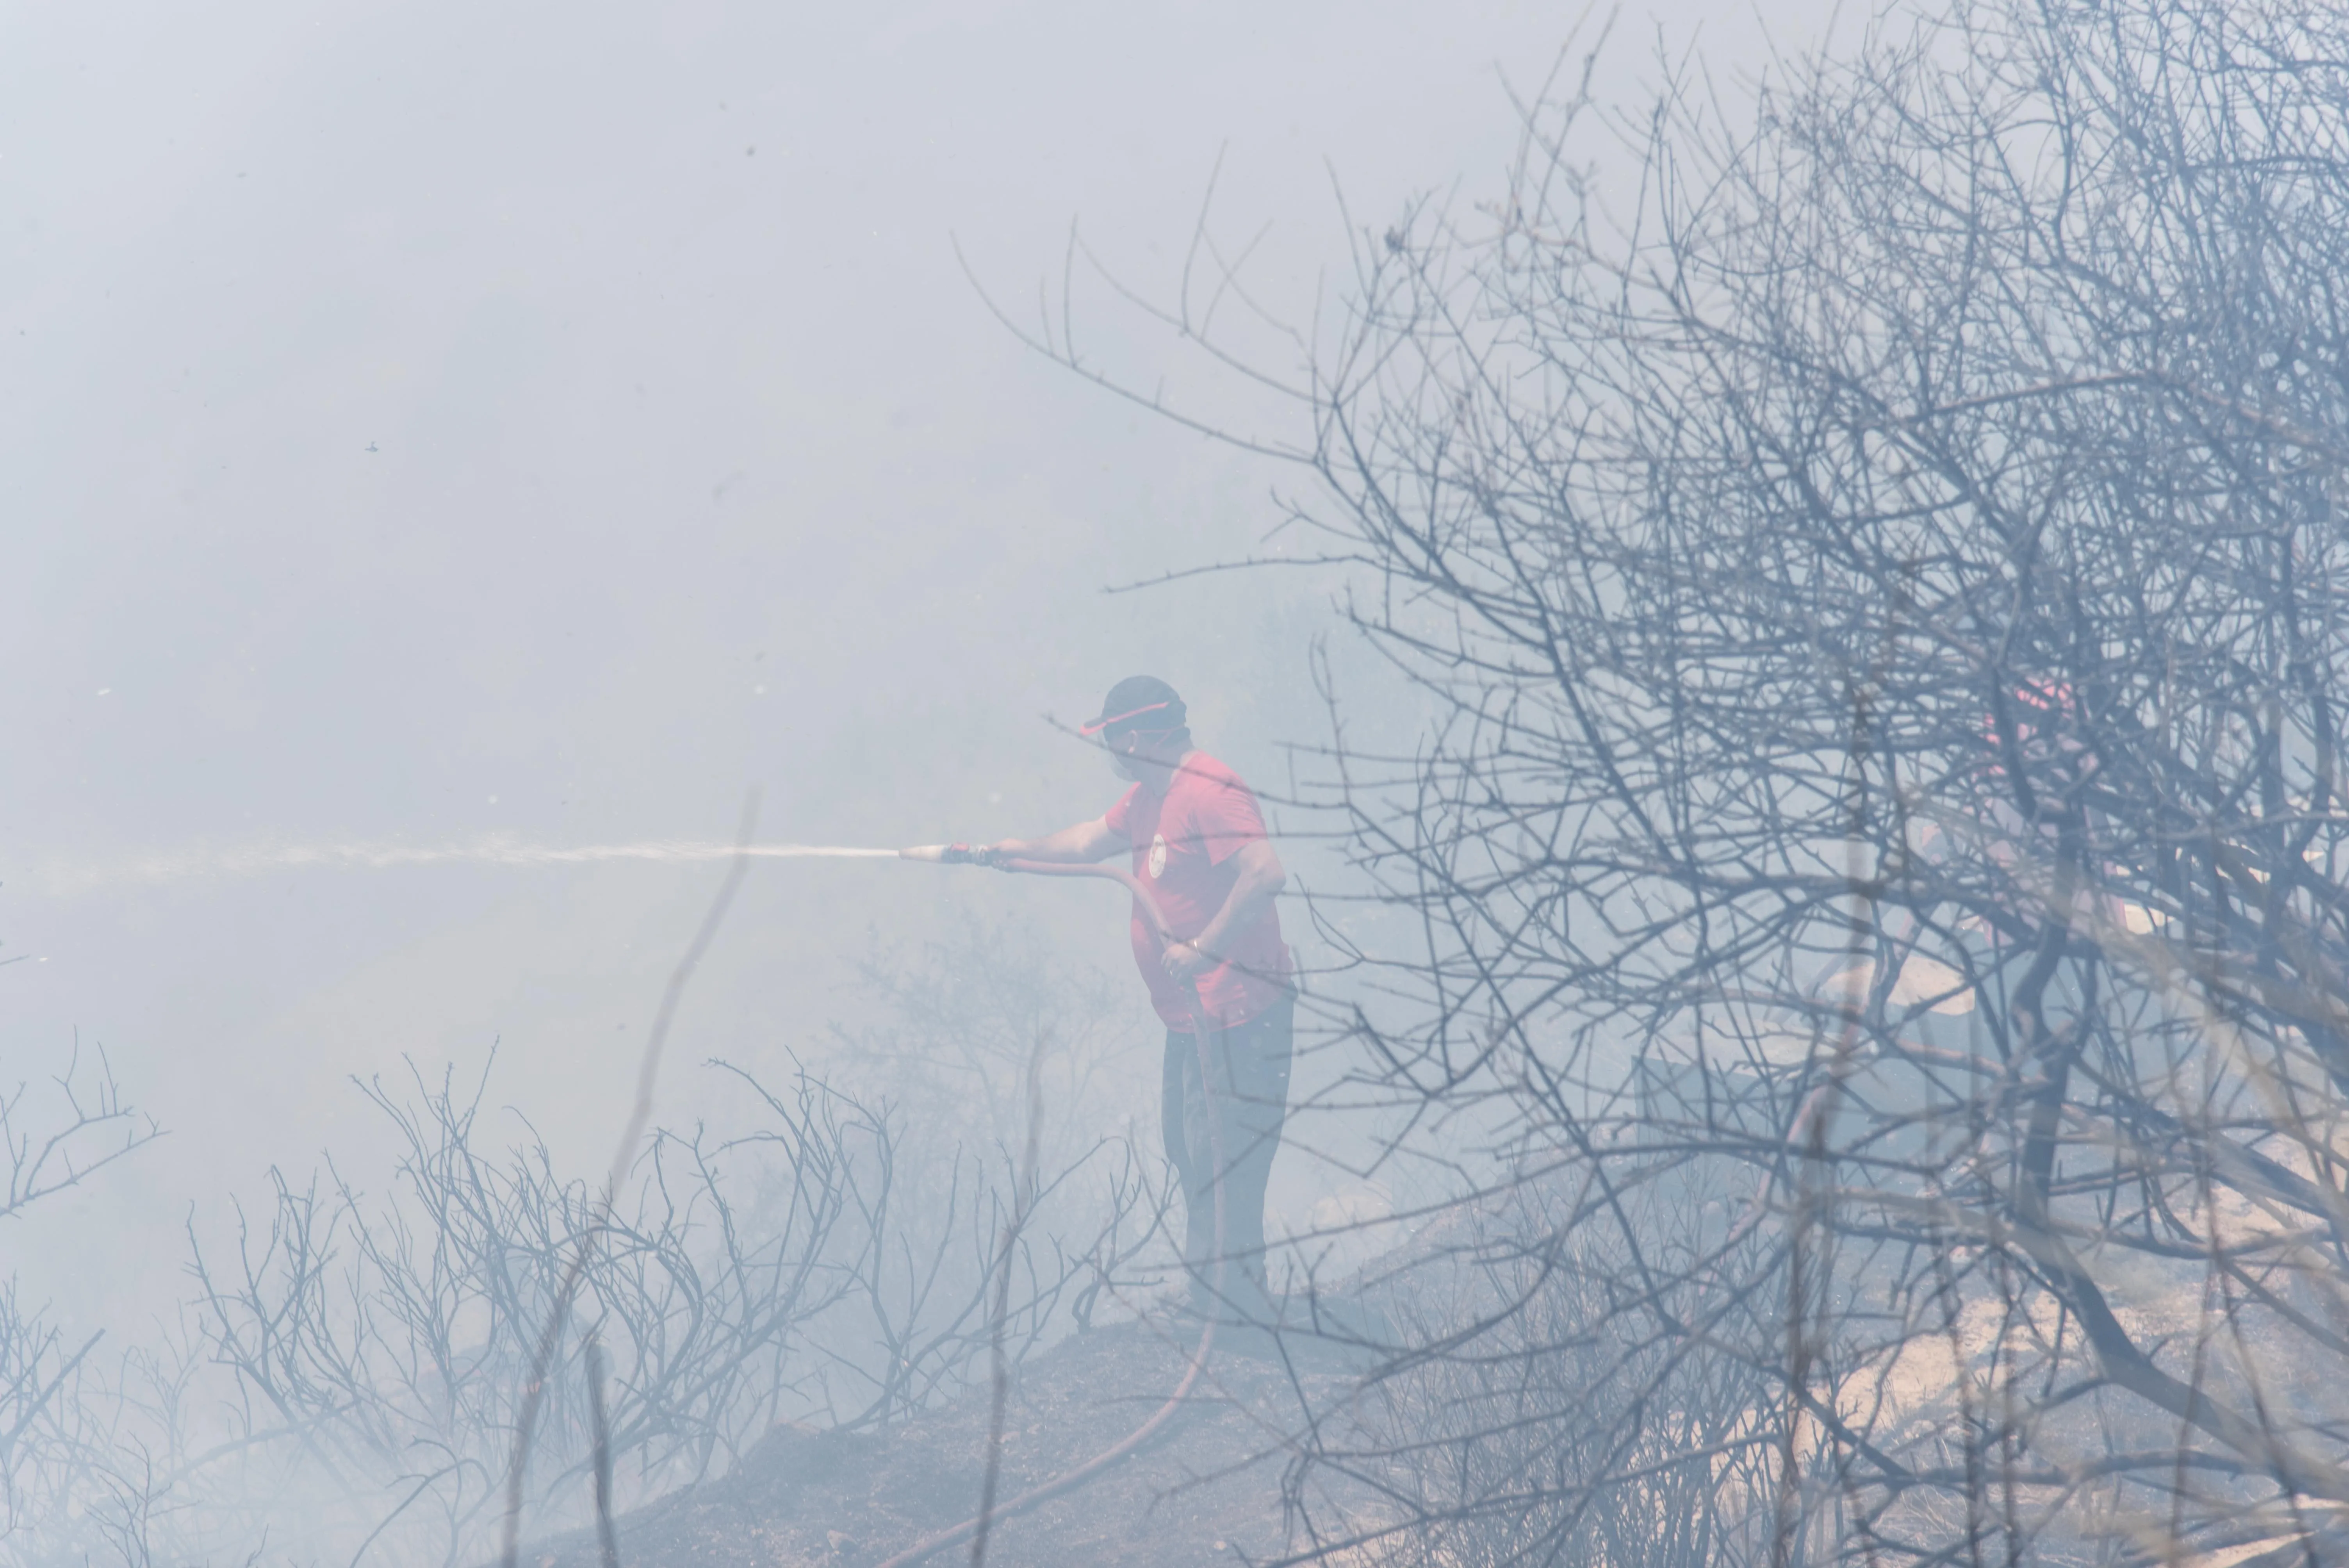
M 731 845 L 686 838 L 648 838 L 625 845 L 536 845 L 512 833 L 489 833 L 453 845 L 413 843 L 242 843 L 195 845 L 167 854 L 101 864 L 49 864 L 26 883 L 52 897 L 113 887 L 190 883 L 202 878 L 261 876 L 265 871 L 390 871 L 397 866 L 590 866 L 601 861 L 716 861 L 754 859 L 897 859 L 897 850 L 850 845 Z

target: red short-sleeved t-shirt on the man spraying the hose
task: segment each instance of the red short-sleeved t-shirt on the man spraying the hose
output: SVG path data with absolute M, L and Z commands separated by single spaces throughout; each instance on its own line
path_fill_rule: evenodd
M 1135 845 L 1135 876 L 1156 894 L 1158 913 L 1177 939 L 1207 930 L 1240 880 L 1231 857 L 1266 836 L 1257 796 L 1205 751 L 1184 758 L 1165 798 L 1135 784 L 1102 822 Z M 1191 993 L 1158 960 L 1158 937 L 1139 906 L 1132 934 L 1135 962 L 1158 1016 L 1170 1028 L 1189 1028 Z M 1273 908 L 1229 932 L 1224 962 L 1198 974 L 1198 995 L 1219 1028 L 1247 1023 L 1287 991 L 1290 948 L 1280 941 L 1280 913 Z

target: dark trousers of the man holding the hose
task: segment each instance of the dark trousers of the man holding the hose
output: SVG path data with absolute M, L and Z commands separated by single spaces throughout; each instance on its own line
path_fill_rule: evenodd
M 1198 1038 L 1167 1030 L 1163 1127 L 1167 1155 L 1182 1176 L 1184 1265 L 1191 1298 L 1203 1310 L 1217 1303 L 1214 1188 L 1217 1148 L 1224 1178 L 1224 1249 L 1229 1258 L 1221 1296 L 1231 1305 L 1259 1305 L 1264 1296 L 1264 1183 L 1280 1148 L 1280 1122 L 1290 1110 L 1290 1047 L 1297 998 L 1280 998 L 1247 1023 L 1207 1030 L 1214 1082 L 1203 1091 Z

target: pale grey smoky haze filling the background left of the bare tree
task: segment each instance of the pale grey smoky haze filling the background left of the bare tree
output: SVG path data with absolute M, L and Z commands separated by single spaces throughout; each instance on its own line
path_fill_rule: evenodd
M 1750 73 L 1757 16 L 1712 9 L 1665 21 Z M 171 1129 L 9 1237 L 35 1296 L 94 1300 L 127 1251 L 176 1265 L 190 1202 L 364 1141 L 345 1075 L 402 1054 L 503 1040 L 498 1099 L 601 1150 L 716 880 L 143 861 L 723 838 L 749 784 L 770 840 L 1041 831 L 1118 789 L 1043 716 L 1137 669 L 1276 770 L 1313 721 L 1325 584 L 1099 589 L 1245 552 L 1297 477 L 1024 352 L 949 237 L 1019 310 L 1071 221 L 1172 298 L 1221 157 L 1217 228 L 1271 225 L 1252 277 L 1304 322 L 1344 291 L 1332 171 L 1365 225 L 1489 192 L 1501 73 L 1539 82 L 1574 21 L 0 9 L 0 958 L 26 955 L 0 1077 L 80 1033 Z M 1609 89 L 1654 75 L 1647 28 L 1618 23 Z M 1144 378 L 1177 364 L 1099 291 L 1078 333 Z M 1118 899 L 1090 892 L 761 866 L 677 1061 L 817 1038 L 874 930 L 1036 920 L 1123 972 Z

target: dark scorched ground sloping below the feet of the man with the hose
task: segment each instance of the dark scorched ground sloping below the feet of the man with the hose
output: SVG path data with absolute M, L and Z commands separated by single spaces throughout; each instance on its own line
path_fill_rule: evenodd
M 1191 1329 L 1118 1324 L 1015 1371 L 998 1500 L 1048 1481 L 1139 1427 L 1174 1390 Z M 1285 1437 L 1306 1401 L 1344 1418 L 1344 1347 L 1313 1336 L 1226 1333 L 1200 1387 L 1142 1453 L 1073 1493 L 996 1523 L 1005 1568 L 1264 1563 L 1285 1528 Z M 869 1568 L 977 1512 L 989 1390 L 883 1432 L 778 1427 L 716 1481 L 618 1521 L 627 1568 Z M 526 1549 L 538 1568 L 597 1568 L 592 1533 Z M 930 1563 L 968 1563 L 970 1545 Z

